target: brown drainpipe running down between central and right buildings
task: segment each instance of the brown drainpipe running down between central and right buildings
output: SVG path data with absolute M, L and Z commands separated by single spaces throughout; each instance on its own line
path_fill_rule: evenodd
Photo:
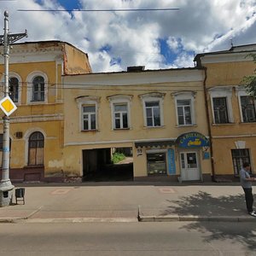
M 207 67 L 203 67 L 205 72 L 205 79 L 204 79 L 204 96 L 205 96 L 205 104 L 206 104 L 206 113 L 207 113 L 207 130 L 209 134 L 209 143 L 210 143 L 210 154 L 211 154 L 211 166 L 212 166 L 212 181 L 215 181 L 215 168 L 214 168 L 214 160 L 213 160 L 213 150 L 212 150 L 212 130 L 210 124 L 210 115 L 209 115 L 209 105 L 207 102 Z

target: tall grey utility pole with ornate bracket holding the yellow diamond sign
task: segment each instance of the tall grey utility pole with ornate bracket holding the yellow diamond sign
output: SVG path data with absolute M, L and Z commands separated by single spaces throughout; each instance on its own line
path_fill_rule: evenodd
M 4 97 L 9 96 L 9 44 L 13 44 L 20 38 L 27 37 L 25 33 L 9 34 L 9 13 L 4 12 L 3 36 L 0 36 L 0 44 L 3 45 L 4 57 Z M 2 180 L 0 182 L 0 207 L 7 207 L 11 203 L 15 186 L 9 179 L 9 116 L 3 116 L 3 156 L 2 156 Z

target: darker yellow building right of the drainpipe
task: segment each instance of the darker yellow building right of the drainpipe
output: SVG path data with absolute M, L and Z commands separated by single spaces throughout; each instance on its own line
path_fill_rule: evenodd
M 205 67 L 208 122 L 216 179 L 236 179 L 242 163 L 256 173 L 255 99 L 241 86 L 244 76 L 256 67 L 248 54 L 256 44 L 195 56 L 197 67 Z

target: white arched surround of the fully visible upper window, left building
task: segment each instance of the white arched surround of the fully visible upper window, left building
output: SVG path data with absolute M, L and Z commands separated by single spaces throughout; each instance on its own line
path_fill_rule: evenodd
M 33 94 L 33 79 L 36 77 L 43 77 L 44 78 L 44 101 L 33 101 L 32 94 Z M 30 105 L 38 105 L 38 104 L 45 104 L 48 102 L 48 77 L 45 73 L 41 71 L 35 71 L 30 73 L 26 78 L 26 102 Z

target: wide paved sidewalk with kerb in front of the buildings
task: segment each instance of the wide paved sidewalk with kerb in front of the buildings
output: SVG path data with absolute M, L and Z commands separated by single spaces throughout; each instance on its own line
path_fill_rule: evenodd
M 18 201 L 0 208 L 0 223 L 256 222 L 247 214 L 238 183 L 15 184 L 20 187 L 25 188 L 25 205 Z

